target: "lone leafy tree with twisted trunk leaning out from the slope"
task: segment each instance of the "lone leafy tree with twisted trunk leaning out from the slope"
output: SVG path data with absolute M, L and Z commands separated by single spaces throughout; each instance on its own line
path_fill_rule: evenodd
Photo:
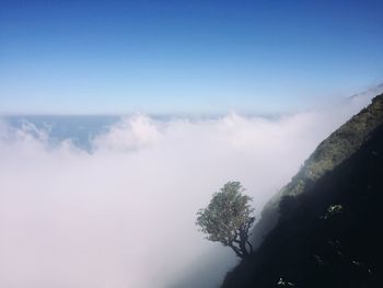
M 208 240 L 230 246 L 241 258 L 253 253 L 248 230 L 255 220 L 249 205 L 253 198 L 243 195 L 244 191 L 240 182 L 228 182 L 212 195 L 209 206 L 197 212 L 196 221 Z

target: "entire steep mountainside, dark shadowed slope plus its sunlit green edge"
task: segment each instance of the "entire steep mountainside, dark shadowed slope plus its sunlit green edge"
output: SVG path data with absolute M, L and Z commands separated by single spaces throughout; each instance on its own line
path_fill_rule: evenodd
M 264 215 L 279 211 L 277 224 L 223 287 L 380 287 L 382 192 L 383 94 L 324 140 L 270 201 Z

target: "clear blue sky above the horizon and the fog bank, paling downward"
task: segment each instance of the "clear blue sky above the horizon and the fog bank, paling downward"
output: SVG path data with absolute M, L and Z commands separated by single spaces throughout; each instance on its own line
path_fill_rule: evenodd
M 0 113 L 281 112 L 383 81 L 383 1 L 0 0 Z

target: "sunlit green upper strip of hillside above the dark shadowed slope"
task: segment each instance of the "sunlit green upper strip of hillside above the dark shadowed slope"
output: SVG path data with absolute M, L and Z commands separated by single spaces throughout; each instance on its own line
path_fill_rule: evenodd
M 254 246 L 258 246 L 277 223 L 279 200 L 283 196 L 301 194 L 326 172 L 352 155 L 371 137 L 371 133 L 383 124 L 383 93 L 326 138 L 304 162 L 297 175 L 272 197 L 262 211 L 262 219 L 253 231 Z

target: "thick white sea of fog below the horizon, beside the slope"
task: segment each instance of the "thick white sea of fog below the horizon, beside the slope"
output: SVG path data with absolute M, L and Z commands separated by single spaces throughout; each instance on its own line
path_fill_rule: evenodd
M 241 181 L 256 214 L 370 96 L 274 118 L 0 118 L 0 287 L 217 287 L 234 253 L 196 212 Z

